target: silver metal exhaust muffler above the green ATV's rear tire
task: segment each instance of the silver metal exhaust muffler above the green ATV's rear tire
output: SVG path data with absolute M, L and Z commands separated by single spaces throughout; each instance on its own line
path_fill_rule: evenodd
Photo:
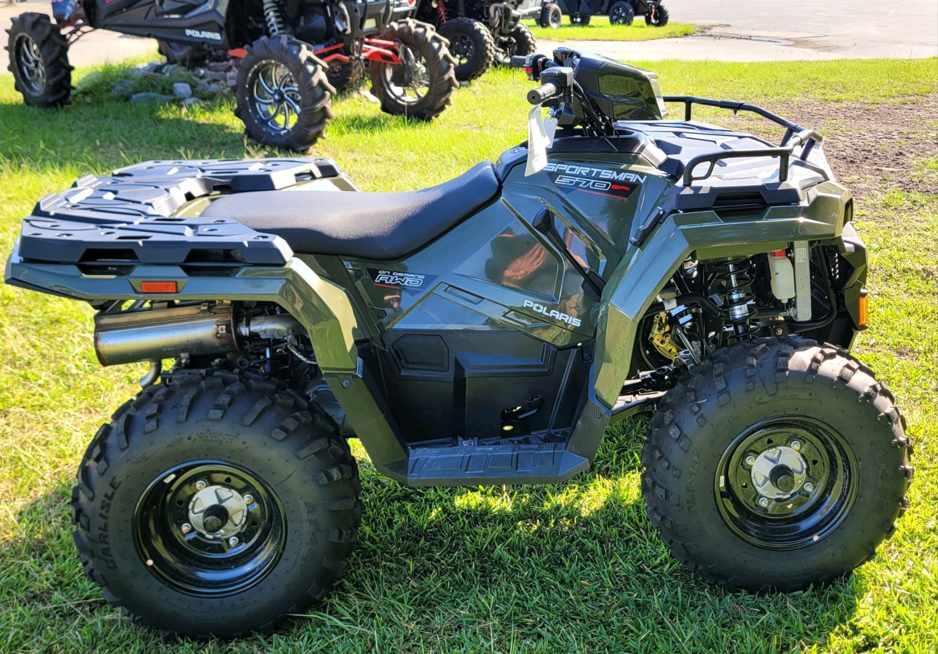
M 243 316 L 231 304 L 201 304 L 138 312 L 98 313 L 95 351 L 101 365 L 159 361 L 187 354 L 236 352 L 237 336 L 280 339 L 306 331 L 289 313 Z

